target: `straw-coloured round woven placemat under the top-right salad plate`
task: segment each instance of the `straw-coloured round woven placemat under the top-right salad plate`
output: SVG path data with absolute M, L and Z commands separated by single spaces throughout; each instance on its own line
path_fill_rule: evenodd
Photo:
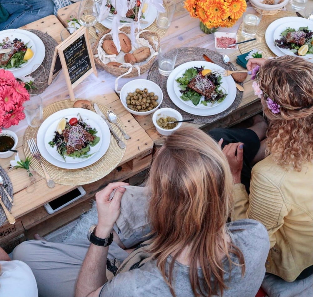
M 263 58 L 269 58 L 269 57 L 276 57 L 276 55 L 269 49 L 269 47 L 266 44 L 265 41 L 265 31 L 269 24 L 274 22 L 277 19 L 284 18 L 284 17 L 296 17 L 297 15 L 290 11 L 280 11 L 279 13 L 276 13 L 274 15 L 264 15 L 262 16 L 261 22 L 259 24 L 258 30 L 256 32 L 254 41 L 249 41 L 246 43 L 239 44 L 239 50 L 242 54 L 247 53 L 253 49 L 262 50 L 262 56 Z M 237 39 L 238 42 L 247 40 L 242 33 L 242 23 L 237 31 Z

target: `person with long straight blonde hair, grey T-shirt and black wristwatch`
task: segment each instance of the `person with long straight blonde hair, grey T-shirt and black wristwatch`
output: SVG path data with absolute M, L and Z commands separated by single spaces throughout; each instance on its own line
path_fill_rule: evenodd
M 112 266 L 112 261 L 106 261 L 108 247 L 97 246 L 95 241 L 84 247 L 85 253 L 88 250 L 86 256 L 74 244 L 38 241 L 22 243 L 14 250 L 14 256 L 32 267 L 40 278 L 39 288 L 53 290 L 50 296 L 63 296 L 56 291 L 65 290 L 69 283 L 73 285 L 64 279 L 68 280 L 69 271 L 78 274 L 77 263 L 81 260 L 77 255 L 82 255 L 85 259 L 77 279 L 77 297 L 252 297 L 264 278 L 269 240 L 264 226 L 255 220 L 227 223 L 233 209 L 232 186 L 230 168 L 218 144 L 196 128 L 180 129 L 168 136 L 157 151 L 149 173 L 145 219 L 150 222 L 152 237 L 131 252 L 112 279 L 105 281 L 109 276 L 107 263 Z M 122 182 L 111 183 L 96 194 L 98 225 L 92 234 L 98 240 L 110 242 L 110 232 L 120 212 L 123 221 L 128 221 L 127 216 L 132 217 L 144 207 L 142 201 L 131 206 L 133 214 L 120 209 L 127 193 L 129 203 L 138 201 L 138 192 L 128 191 L 139 187 L 129 187 Z M 118 231 L 121 238 L 125 234 L 123 229 Z M 48 254 L 47 250 L 62 263 L 59 260 L 51 264 L 50 260 L 49 268 L 40 267 L 38 260 L 34 264 L 34 255 L 42 257 Z M 60 281 L 62 285 L 55 286 Z M 66 292 L 71 296 L 69 290 Z M 39 289 L 40 296 L 49 296 L 43 293 Z

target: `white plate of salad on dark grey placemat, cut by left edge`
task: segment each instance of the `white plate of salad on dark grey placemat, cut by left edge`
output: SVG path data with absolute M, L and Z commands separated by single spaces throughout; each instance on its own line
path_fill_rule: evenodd
M 11 71 L 15 77 L 22 77 L 32 73 L 40 66 L 42 61 L 44 61 L 46 49 L 44 43 L 36 34 L 21 29 L 8 29 L 0 32 L 0 42 L 7 37 L 11 41 L 15 38 L 21 39 L 25 44 L 29 41 L 27 46 L 31 47 L 34 52 L 33 57 L 22 64 L 21 67 L 7 69 Z

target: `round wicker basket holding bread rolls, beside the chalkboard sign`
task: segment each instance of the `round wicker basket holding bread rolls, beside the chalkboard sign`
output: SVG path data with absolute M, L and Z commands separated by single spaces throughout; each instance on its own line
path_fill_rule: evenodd
M 104 40 L 106 39 L 112 39 L 112 36 L 108 33 L 110 33 L 111 30 L 107 30 L 104 33 L 102 33 L 99 38 L 97 39 L 97 41 L 95 42 L 95 44 L 92 47 L 92 51 L 94 55 L 97 55 L 97 48 L 98 48 L 98 44 L 101 40 L 101 38 L 103 37 L 103 35 L 107 34 L 104 38 Z M 122 27 L 120 28 L 121 32 L 124 32 L 125 34 L 130 34 L 130 27 Z M 136 29 L 136 32 L 137 29 Z M 155 52 L 158 51 L 159 47 L 160 47 L 160 36 L 157 33 L 151 32 L 151 31 L 146 31 L 143 30 L 142 33 L 139 34 L 141 38 L 144 38 L 145 40 L 148 41 L 149 45 L 151 45 L 151 47 L 153 48 L 153 50 L 155 50 Z M 154 60 L 156 59 L 156 55 L 152 56 L 149 60 L 146 60 L 144 62 L 141 62 L 141 65 L 139 66 L 137 63 L 134 66 L 139 66 L 140 69 L 140 75 L 142 73 L 147 72 L 151 65 L 153 64 Z M 111 73 L 114 76 L 120 76 L 123 75 L 124 73 L 129 71 L 129 68 L 126 67 L 115 67 L 115 66 L 108 66 L 107 64 L 103 63 L 98 57 L 95 57 L 95 64 L 104 69 L 105 71 Z M 125 78 L 129 78 L 129 77 L 137 77 L 139 76 L 138 70 L 136 67 L 133 67 L 131 72 L 124 75 L 123 77 Z

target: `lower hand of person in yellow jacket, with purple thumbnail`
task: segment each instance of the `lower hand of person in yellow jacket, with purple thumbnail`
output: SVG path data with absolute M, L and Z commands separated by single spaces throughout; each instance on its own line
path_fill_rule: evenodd
M 242 142 L 230 143 L 224 146 L 223 153 L 228 160 L 230 171 L 234 178 L 234 183 L 240 183 L 241 182 L 240 174 L 242 170 L 244 154 L 243 143 Z

